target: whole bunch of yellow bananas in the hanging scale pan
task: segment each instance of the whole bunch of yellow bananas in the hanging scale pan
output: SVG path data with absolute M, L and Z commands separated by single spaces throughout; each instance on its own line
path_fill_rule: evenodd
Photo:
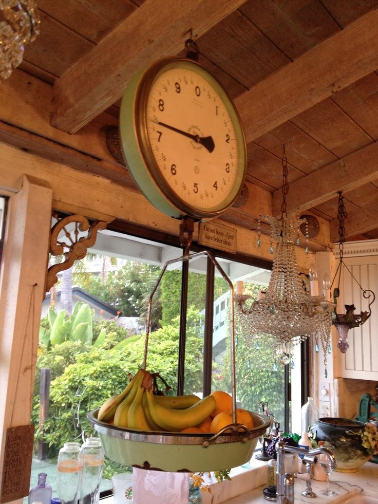
M 117 427 L 142 431 L 180 432 L 200 424 L 213 412 L 213 396 L 157 396 L 153 376 L 139 369 L 121 394 L 112 396 L 99 409 L 98 420 L 114 421 Z

